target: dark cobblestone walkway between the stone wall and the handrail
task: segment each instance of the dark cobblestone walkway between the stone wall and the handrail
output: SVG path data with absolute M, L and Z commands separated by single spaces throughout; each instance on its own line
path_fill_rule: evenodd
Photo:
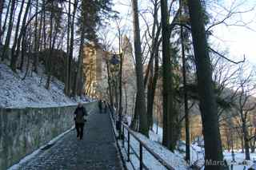
M 91 114 L 86 122 L 82 140 L 76 138 L 74 129 L 52 147 L 40 151 L 37 156 L 23 163 L 18 169 L 122 169 L 109 115 Z

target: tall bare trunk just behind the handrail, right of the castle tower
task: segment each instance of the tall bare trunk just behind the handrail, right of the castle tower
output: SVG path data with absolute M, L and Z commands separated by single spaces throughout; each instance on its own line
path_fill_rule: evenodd
M 138 102 L 135 112 L 139 113 L 139 132 L 148 136 L 148 126 L 146 121 L 146 105 L 145 93 L 143 85 L 143 65 L 142 65 L 142 47 L 140 39 L 140 29 L 138 21 L 138 0 L 132 0 L 133 20 L 134 20 L 134 49 L 136 60 L 136 76 L 137 76 L 137 90 Z

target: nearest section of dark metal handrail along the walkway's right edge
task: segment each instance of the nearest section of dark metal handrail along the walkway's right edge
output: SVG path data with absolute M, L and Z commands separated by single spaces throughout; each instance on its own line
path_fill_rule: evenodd
M 164 166 L 165 168 L 167 168 L 167 169 L 169 169 L 169 170 L 174 170 L 174 168 L 173 167 L 171 167 L 169 164 L 167 164 L 166 163 L 166 161 L 165 160 L 163 160 L 160 156 L 158 156 L 158 154 L 156 154 L 154 151 L 152 151 L 152 149 L 150 149 L 141 139 L 139 139 L 138 138 L 138 136 L 136 136 L 136 134 L 129 128 L 129 126 L 128 125 L 126 125 L 126 124 L 124 124 L 123 122 L 122 122 L 122 128 L 120 129 L 120 130 L 122 130 L 122 146 L 124 147 L 124 142 L 125 142 L 125 140 L 127 139 L 126 137 L 125 137 L 125 133 L 124 133 L 124 128 L 126 128 L 126 130 L 127 130 L 127 132 L 128 132 L 128 139 L 127 139 L 127 143 L 128 143 L 128 145 L 127 145 L 127 157 L 128 157 L 128 161 L 130 161 L 130 148 L 131 148 L 131 146 L 130 146 L 130 135 L 132 135 L 133 137 L 134 137 L 134 139 L 135 140 L 137 140 L 138 142 L 139 142 L 139 156 L 138 156 L 138 154 L 136 153 L 135 154 L 135 156 L 138 158 L 138 160 L 139 160 L 139 162 L 140 162 L 140 170 L 142 170 L 143 168 L 146 168 L 146 166 L 145 166 L 145 164 L 143 164 L 143 160 L 142 160 L 142 149 L 143 148 L 146 148 L 146 151 L 147 152 L 150 152 L 150 154 L 152 155 L 152 156 L 154 156 L 154 158 L 156 159 L 156 160 L 158 160 L 158 162 L 160 163 L 160 164 L 162 164 L 162 166 Z M 126 150 L 126 149 L 125 149 Z M 132 148 L 132 150 L 134 151 L 134 149 Z M 134 151 L 135 152 L 135 151 Z M 148 168 L 146 168 L 146 169 L 148 169 Z

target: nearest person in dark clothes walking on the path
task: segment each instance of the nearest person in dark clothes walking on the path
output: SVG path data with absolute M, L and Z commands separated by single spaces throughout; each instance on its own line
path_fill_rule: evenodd
M 78 103 L 78 107 L 74 111 L 74 121 L 75 121 L 75 128 L 77 129 L 77 137 L 80 140 L 82 140 L 83 127 L 86 121 L 84 117 L 87 115 L 88 114 L 86 112 L 86 109 L 82 106 L 82 103 Z

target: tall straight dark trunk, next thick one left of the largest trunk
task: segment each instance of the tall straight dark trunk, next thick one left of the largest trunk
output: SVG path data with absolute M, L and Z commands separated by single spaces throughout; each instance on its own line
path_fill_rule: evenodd
M 176 142 L 174 141 L 174 101 L 173 101 L 173 80 L 172 65 L 170 62 L 170 32 L 168 24 L 167 1 L 161 0 L 161 20 L 162 20 L 162 109 L 163 109 L 163 138 L 162 144 L 174 151 Z

